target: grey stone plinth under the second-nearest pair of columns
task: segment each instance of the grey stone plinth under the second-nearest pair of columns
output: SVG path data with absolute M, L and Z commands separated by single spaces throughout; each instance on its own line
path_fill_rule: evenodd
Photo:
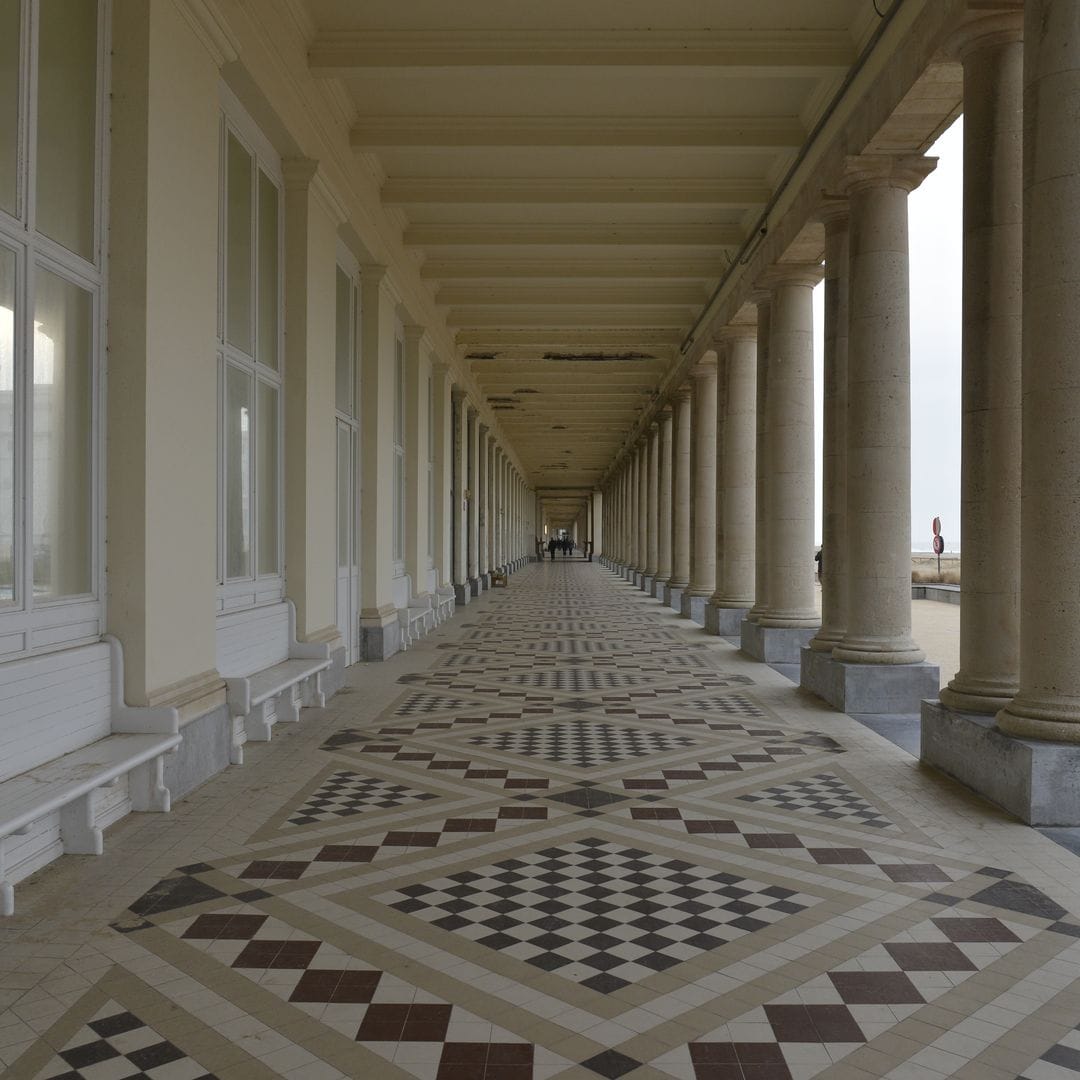
M 927 698 L 937 697 L 940 684 L 941 669 L 924 661 L 848 664 L 809 647 L 799 658 L 799 686 L 841 713 L 917 713 Z

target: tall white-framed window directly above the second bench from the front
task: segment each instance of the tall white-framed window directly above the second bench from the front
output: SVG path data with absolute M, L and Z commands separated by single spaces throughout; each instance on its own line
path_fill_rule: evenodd
M 282 594 L 281 162 L 233 100 L 221 120 L 220 512 L 225 607 Z

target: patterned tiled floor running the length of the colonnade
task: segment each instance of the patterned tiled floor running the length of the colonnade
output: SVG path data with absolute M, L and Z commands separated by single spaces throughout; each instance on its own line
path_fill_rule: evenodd
M 1080 1078 L 1080 861 L 596 564 L 18 889 L 11 1077 Z

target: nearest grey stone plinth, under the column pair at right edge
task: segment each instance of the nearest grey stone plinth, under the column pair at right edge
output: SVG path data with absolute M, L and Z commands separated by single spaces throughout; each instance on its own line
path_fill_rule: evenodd
M 1080 745 L 1017 739 L 994 725 L 923 701 L 920 760 L 1028 825 L 1080 825 Z

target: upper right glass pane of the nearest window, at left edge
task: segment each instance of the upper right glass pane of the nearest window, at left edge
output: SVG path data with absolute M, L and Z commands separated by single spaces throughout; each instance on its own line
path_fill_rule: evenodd
M 37 224 L 92 259 L 97 3 L 41 0 L 38 35 Z

